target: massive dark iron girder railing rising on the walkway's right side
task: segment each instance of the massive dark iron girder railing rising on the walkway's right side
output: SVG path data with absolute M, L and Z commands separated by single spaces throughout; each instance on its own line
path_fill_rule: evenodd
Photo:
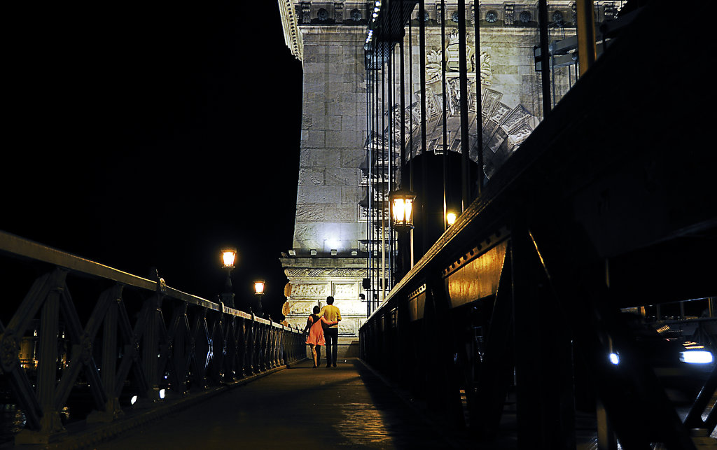
M 581 411 L 600 449 L 695 449 L 717 425 L 717 365 L 678 404 L 623 311 L 717 295 L 713 165 L 680 131 L 708 120 L 644 113 L 680 102 L 649 75 L 663 55 L 694 54 L 686 24 L 655 42 L 665 14 L 644 9 L 360 329 L 366 363 L 475 441 L 509 413 L 519 449 L 575 449 Z

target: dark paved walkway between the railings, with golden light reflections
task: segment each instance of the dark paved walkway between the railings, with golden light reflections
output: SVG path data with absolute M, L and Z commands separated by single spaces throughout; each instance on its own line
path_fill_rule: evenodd
M 359 360 L 308 362 L 95 446 L 109 449 L 456 448 Z

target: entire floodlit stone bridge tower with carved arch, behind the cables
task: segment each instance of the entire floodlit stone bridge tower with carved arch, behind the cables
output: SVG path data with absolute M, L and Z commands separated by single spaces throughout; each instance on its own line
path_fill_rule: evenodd
M 366 261 L 368 252 L 376 254 L 376 249 L 381 250 L 370 237 L 374 231 L 367 225 L 366 199 L 381 199 L 387 195 L 372 191 L 375 187 L 371 181 L 376 181 L 376 175 L 368 180 L 367 149 L 387 141 L 391 134 L 389 128 L 382 133 L 371 130 L 370 138 L 368 133 L 364 44 L 374 1 L 278 2 L 285 42 L 303 64 L 301 153 L 293 248 L 281 258 L 289 279 L 283 313 L 290 325 L 303 327 L 311 308 L 323 305 L 326 297 L 333 295 L 343 316 L 339 351 L 343 355 L 356 355 L 358 330 L 368 311 L 361 282 L 366 277 L 380 278 L 375 272 L 369 274 Z M 599 2 L 594 11 L 596 22 L 612 19 L 622 3 Z M 442 6 L 445 6 L 445 14 Z M 468 74 L 468 92 L 472 92 L 469 157 L 477 162 L 480 148 L 483 174 L 490 178 L 543 116 L 541 74 L 536 72 L 534 54 L 539 41 L 537 4 L 536 1 L 480 1 L 479 11 L 475 11 L 473 1 L 466 1 L 465 6 L 468 29 L 475 28 L 476 17 L 480 28 L 480 54 L 475 54 L 475 34 L 467 32 L 468 71 L 473 72 Z M 548 6 L 550 41 L 559 42 L 574 36 L 574 1 L 548 1 Z M 407 48 L 404 62 L 406 67 L 412 67 L 414 74 L 413 80 L 409 80 L 414 94 L 405 102 L 405 115 L 409 115 L 409 110 L 417 110 L 418 92 L 421 92 L 418 74 L 424 71 L 426 75 L 427 148 L 411 153 L 414 158 L 420 158 L 422 153 L 439 155 L 445 148 L 450 152 L 462 151 L 460 111 L 453 89 L 458 82 L 457 0 L 445 0 L 443 5 L 440 0 L 426 1 L 424 8 L 424 17 L 419 18 L 418 8 L 411 15 L 412 42 L 404 37 Z M 424 27 L 426 33 L 424 66 L 419 62 L 419 27 Z M 438 70 L 441 55 L 447 59 L 445 96 Z M 553 102 L 569 90 L 577 77 L 570 54 L 560 61 L 551 67 Z M 480 114 L 475 95 L 476 71 L 480 71 Z M 447 99 L 446 105 L 442 105 L 442 97 Z M 390 108 L 386 105 L 384 111 L 389 110 L 393 111 L 390 115 L 400 111 L 398 101 Z M 388 119 L 386 122 L 391 121 L 388 112 L 383 115 Z M 444 115 L 447 133 L 442 130 Z M 398 116 L 394 115 L 393 120 Z M 483 130 L 480 145 L 476 132 L 478 118 Z M 406 135 L 414 135 L 419 142 L 420 128 L 414 120 L 407 125 Z M 445 134 L 449 137 L 446 145 L 441 140 Z M 385 184 L 383 179 L 378 183 Z

